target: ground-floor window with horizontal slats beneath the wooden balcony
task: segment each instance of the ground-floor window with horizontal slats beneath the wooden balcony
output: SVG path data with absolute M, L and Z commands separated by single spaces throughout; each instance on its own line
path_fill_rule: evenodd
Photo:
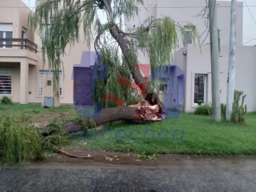
M 11 94 L 11 71 L 0 70 L 0 94 Z

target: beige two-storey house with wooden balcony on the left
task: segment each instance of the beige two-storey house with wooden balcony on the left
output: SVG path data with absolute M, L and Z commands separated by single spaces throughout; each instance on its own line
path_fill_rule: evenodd
M 41 36 L 28 28 L 29 9 L 21 0 L 1 0 L 0 5 L 0 98 L 11 97 L 16 103 L 44 103 L 53 97 L 52 73 L 48 64 L 43 68 Z M 81 28 L 82 32 L 82 28 Z M 90 66 L 87 44 L 81 41 L 67 48 L 60 71 L 60 104 L 73 104 L 73 66 Z M 89 61 L 89 62 L 88 62 Z M 89 64 L 88 64 L 89 63 Z

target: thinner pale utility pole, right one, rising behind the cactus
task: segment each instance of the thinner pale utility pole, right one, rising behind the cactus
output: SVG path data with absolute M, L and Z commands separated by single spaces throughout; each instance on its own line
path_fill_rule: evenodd
M 230 15 L 230 53 L 228 62 L 228 91 L 227 91 L 227 107 L 225 117 L 227 120 L 231 119 L 232 106 L 234 102 L 235 92 L 235 51 L 236 51 L 236 2 L 231 1 L 231 15 Z

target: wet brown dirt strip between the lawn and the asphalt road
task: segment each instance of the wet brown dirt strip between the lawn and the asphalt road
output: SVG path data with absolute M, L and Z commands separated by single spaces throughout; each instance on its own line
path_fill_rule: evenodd
M 43 161 L 28 161 L 26 168 L 102 168 L 102 169 L 224 169 L 256 167 L 256 156 L 197 156 L 161 154 L 156 160 L 138 159 L 137 154 L 113 151 L 67 151 L 78 156 L 93 156 L 92 159 L 77 159 L 63 154 L 54 154 Z

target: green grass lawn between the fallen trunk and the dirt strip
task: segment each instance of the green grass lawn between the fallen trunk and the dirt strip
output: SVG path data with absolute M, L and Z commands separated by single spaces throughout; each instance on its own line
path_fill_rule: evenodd
M 150 131 L 144 136 L 143 124 L 117 123 L 97 131 L 97 134 L 90 132 L 90 136 L 82 141 L 76 136 L 72 146 L 86 144 L 87 149 L 145 154 L 256 154 L 256 113 L 247 114 L 245 125 L 228 122 L 214 124 L 208 116 L 181 114 L 180 119 L 149 124 L 148 129 L 154 131 L 154 137 Z M 183 133 L 177 131 L 174 137 L 176 129 L 183 130 Z

